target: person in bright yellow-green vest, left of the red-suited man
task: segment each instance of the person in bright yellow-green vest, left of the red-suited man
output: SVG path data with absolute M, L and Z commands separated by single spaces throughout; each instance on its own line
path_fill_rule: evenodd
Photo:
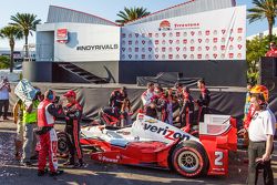
M 24 166 L 31 166 L 31 160 L 34 158 L 35 146 L 37 146 L 37 136 L 33 130 L 37 127 L 38 122 L 38 106 L 40 104 L 40 94 L 39 91 L 35 97 L 32 101 L 30 106 L 25 106 L 23 110 L 23 154 L 22 154 L 22 164 Z

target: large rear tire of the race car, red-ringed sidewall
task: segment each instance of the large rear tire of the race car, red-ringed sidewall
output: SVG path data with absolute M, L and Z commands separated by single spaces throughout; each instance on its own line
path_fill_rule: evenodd
M 185 177 L 206 175 L 208 158 L 204 147 L 194 141 L 179 143 L 171 155 L 174 169 Z

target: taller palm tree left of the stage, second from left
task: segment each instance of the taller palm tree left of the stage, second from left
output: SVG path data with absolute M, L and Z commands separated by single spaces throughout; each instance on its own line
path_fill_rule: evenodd
M 17 13 L 16 16 L 11 16 L 11 20 L 13 22 L 11 22 L 10 24 L 18 27 L 24 35 L 25 56 L 28 58 L 29 56 L 28 37 L 29 34 L 32 35 L 32 31 L 35 31 L 35 25 L 39 24 L 41 20 L 37 19 L 35 14 L 31 14 L 31 13 Z

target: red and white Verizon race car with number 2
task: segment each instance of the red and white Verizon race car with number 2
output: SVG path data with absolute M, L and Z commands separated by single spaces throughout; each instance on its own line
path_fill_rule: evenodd
M 228 174 L 228 151 L 237 150 L 236 135 L 236 120 L 227 115 L 205 115 L 197 138 L 137 114 L 131 127 L 82 127 L 80 142 L 94 148 L 91 158 L 99 162 L 175 169 L 185 177 L 197 177 Z M 64 151 L 64 133 L 58 138 L 58 151 Z

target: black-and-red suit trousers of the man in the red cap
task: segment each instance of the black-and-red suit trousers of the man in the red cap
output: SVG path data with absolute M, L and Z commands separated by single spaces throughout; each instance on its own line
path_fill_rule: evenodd
M 75 162 L 75 155 L 78 160 L 82 161 L 83 152 L 80 145 L 80 124 L 78 121 L 73 121 L 73 125 L 66 125 L 65 132 L 68 134 L 68 145 L 70 150 L 69 161 Z

